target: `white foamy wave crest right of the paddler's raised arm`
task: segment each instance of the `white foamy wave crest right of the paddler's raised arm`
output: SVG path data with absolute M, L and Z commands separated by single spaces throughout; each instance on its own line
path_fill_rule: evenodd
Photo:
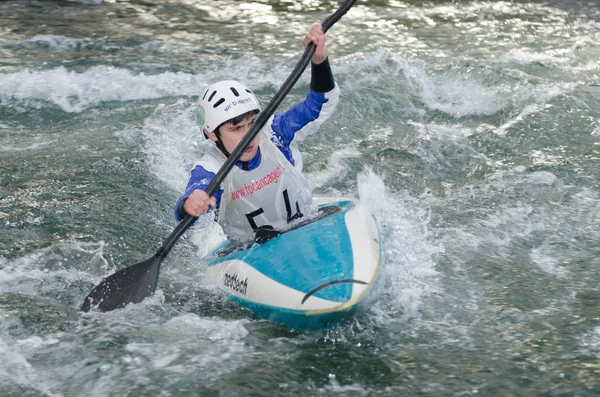
M 375 73 L 373 68 L 382 68 L 384 73 Z M 430 72 L 427 65 L 419 60 L 410 60 L 389 50 L 380 49 L 356 65 L 341 67 L 343 73 L 356 73 L 364 70 L 367 77 L 355 79 L 345 84 L 350 92 L 362 91 L 377 84 L 378 79 L 389 79 L 390 76 L 402 76 L 405 81 L 395 90 L 408 89 L 409 93 L 419 98 L 426 108 L 460 118 L 468 116 L 491 116 L 501 110 L 515 108 L 518 111 L 514 119 L 509 120 L 497 130 L 498 134 L 523 120 L 532 113 L 546 109 L 552 99 L 571 92 L 578 87 L 575 83 L 545 83 L 518 85 L 507 82 L 490 85 L 485 79 L 489 76 L 478 76 L 470 70 L 453 67 L 443 72 Z M 366 81 L 365 81 L 366 79 Z M 381 82 L 379 84 L 382 84 Z M 386 86 L 394 84 L 385 82 Z M 398 84 L 398 82 L 396 82 Z M 391 89 L 391 88 L 390 88 Z M 380 94 L 377 94 L 380 95 Z M 399 93 L 394 95 L 398 100 Z M 379 98 L 381 101 L 382 98 Z M 409 109 L 418 109 L 418 104 Z

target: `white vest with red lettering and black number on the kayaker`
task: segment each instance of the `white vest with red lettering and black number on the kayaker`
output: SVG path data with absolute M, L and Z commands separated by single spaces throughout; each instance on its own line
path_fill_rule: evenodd
M 248 240 L 266 225 L 285 230 L 317 212 L 306 178 L 262 131 L 259 148 L 258 167 L 244 171 L 234 166 L 222 184 L 219 223 L 232 240 Z

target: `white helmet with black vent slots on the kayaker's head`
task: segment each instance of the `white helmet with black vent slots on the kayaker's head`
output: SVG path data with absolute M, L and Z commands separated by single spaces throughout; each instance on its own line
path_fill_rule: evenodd
M 206 87 L 198 97 L 196 121 L 202 130 L 213 132 L 218 126 L 252 110 L 260 111 L 256 96 L 235 80 L 223 80 Z

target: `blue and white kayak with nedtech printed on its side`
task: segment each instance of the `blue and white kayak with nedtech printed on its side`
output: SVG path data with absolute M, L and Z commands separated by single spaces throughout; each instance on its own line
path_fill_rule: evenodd
M 229 241 L 203 258 L 230 299 L 297 330 L 337 326 L 369 309 L 382 284 L 377 225 L 354 199 L 315 198 L 319 215 L 264 243 Z

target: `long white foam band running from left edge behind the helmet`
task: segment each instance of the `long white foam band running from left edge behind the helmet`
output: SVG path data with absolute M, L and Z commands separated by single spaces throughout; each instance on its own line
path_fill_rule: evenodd
M 192 97 L 207 84 L 225 78 L 246 82 L 252 90 L 279 86 L 288 73 L 286 68 L 271 70 L 272 64 L 256 57 L 226 60 L 224 65 L 217 66 L 221 67 L 201 75 L 183 72 L 151 75 L 112 66 L 94 66 L 83 72 L 58 67 L 0 74 L 0 104 L 8 106 L 18 101 L 27 107 L 41 108 L 43 102 L 50 102 L 65 112 L 79 113 L 107 101 Z

